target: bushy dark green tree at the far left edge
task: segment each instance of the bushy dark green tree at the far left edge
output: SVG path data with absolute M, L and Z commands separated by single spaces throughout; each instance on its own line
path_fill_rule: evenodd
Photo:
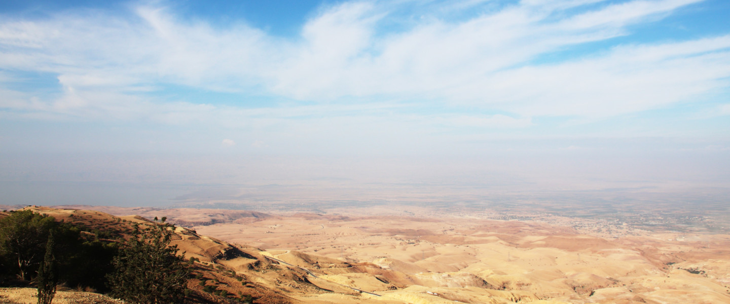
M 55 227 L 53 217 L 30 210 L 12 211 L 0 219 L 0 253 L 11 260 L 20 280 L 30 279 L 41 262 L 48 232 Z

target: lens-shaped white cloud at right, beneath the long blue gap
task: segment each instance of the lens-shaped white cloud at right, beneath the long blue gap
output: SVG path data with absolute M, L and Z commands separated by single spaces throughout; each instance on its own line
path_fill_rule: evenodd
M 728 47 L 730 36 L 619 47 L 600 58 L 505 71 L 458 92 L 473 94 L 482 88 L 502 103 L 502 109 L 525 115 L 607 117 L 641 112 L 726 87 Z M 677 51 L 683 48 L 688 51 Z

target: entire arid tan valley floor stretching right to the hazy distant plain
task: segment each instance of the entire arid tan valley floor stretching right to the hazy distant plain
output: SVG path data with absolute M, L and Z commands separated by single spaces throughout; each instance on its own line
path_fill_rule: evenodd
M 278 303 L 730 303 L 730 235 L 672 225 L 396 205 L 282 214 L 63 208 L 167 217 L 239 246 L 250 256 L 225 262 L 214 258 L 218 247 L 176 241 L 186 257 L 284 296 Z M 253 256 L 272 265 L 249 266 Z M 263 274 L 272 270 L 298 275 Z

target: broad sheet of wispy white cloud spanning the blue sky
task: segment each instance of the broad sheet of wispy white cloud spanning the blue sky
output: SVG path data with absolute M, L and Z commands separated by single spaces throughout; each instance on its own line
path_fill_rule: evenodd
M 33 93 L 6 88 L 10 97 L 0 102 L 22 115 L 252 125 L 291 120 L 293 113 L 312 108 L 343 115 L 347 102 L 362 108 L 363 101 L 377 99 L 392 111 L 420 107 L 400 100 L 427 100 L 513 114 L 442 116 L 440 123 L 521 128 L 533 123 L 531 117 L 610 117 L 691 101 L 728 86 L 730 36 L 621 45 L 540 63 L 540 56 L 628 35 L 627 26 L 661 19 L 700 0 L 596 5 L 600 2 L 608 1 L 521 1 L 458 21 L 439 18 L 435 11 L 397 31 L 383 30 L 386 20 L 398 17 L 395 4 L 345 2 L 312 17 L 294 38 L 242 23 L 215 28 L 145 5 L 131 15 L 8 17 L 0 21 L 0 69 L 58 75 L 64 91 L 61 97 L 33 98 Z M 479 4 L 431 5 L 453 10 Z M 0 80 L 7 79 L 7 71 Z M 164 85 L 281 96 L 319 106 L 251 110 L 145 95 Z M 333 102 L 339 106 L 328 106 Z M 419 121 L 433 117 L 426 113 Z

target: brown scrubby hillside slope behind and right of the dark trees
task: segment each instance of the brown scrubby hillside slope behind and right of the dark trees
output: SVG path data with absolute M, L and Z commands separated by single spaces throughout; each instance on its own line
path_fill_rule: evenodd
M 128 237 L 134 225 L 156 225 L 142 217 L 115 217 L 100 211 L 35 206 L 24 209 L 104 232 L 101 235 Z M 307 283 L 307 274 L 303 271 L 278 268 L 255 248 L 232 246 L 183 227 L 176 228 L 171 244 L 177 245 L 186 259 L 194 258 L 193 274 L 188 280 L 188 289 L 193 291 L 188 297 L 191 303 L 229 303 L 231 300 L 300 303 L 288 294 L 324 292 Z

